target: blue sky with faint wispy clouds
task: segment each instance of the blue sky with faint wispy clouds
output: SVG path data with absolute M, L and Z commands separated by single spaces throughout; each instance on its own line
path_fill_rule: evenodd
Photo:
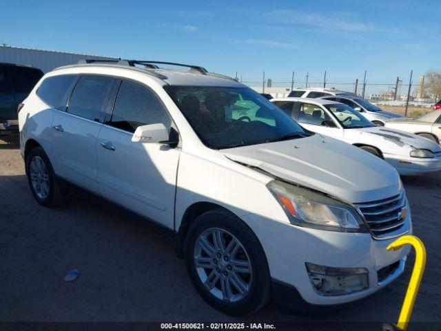
M 274 80 L 407 83 L 441 69 L 439 1 L 0 1 L 0 43 Z

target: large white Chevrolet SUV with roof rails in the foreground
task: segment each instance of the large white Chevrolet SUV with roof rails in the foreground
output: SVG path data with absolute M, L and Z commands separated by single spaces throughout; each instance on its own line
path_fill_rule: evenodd
M 403 272 L 409 249 L 386 250 L 411 233 L 395 169 L 234 79 L 158 64 L 83 63 L 37 83 L 19 129 L 41 205 L 70 182 L 172 230 L 198 292 L 232 315 L 353 301 Z

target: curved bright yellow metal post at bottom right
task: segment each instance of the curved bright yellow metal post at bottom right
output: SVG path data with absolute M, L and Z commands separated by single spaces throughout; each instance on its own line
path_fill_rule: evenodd
M 409 320 L 411 318 L 413 304 L 415 303 L 418 288 L 424 273 L 424 266 L 426 265 L 426 248 L 420 239 L 414 236 L 403 236 L 393 241 L 387 250 L 399 250 L 403 245 L 412 245 L 415 248 L 415 265 L 413 266 L 412 276 L 407 287 L 406 297 L 402 303 L 400 317 L 398 317 L 398 328 L 406 330 Z

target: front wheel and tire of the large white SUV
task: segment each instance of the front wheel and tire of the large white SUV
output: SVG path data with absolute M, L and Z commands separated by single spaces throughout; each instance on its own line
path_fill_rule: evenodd
M 254 232 L 234 215 L 219 209 L 197 217 L 184 249 L 189 277 L 209 305 L 244 316 L 269 301 L 265 252 Z

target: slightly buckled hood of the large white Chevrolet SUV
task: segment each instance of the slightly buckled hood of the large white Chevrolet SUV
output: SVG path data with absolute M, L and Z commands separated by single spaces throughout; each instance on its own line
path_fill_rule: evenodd
M 320 134 L 221 152 L 233 161 L 351 203 L 386 199 L 399 192 L 398 172 L 391 165 Z

